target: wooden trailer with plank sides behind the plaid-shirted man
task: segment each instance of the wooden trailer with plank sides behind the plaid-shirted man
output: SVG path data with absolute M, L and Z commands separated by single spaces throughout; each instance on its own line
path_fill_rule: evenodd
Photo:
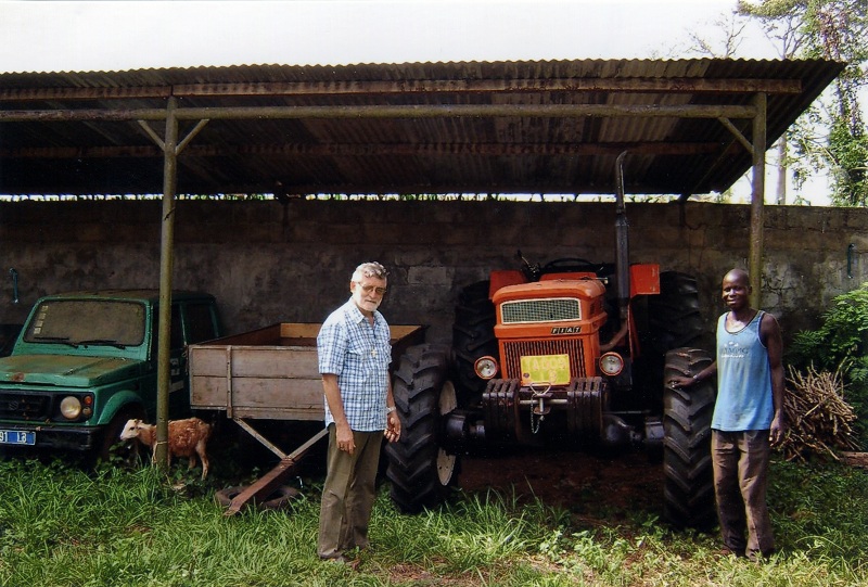
M 316 435 L 290 454 L 255 429 L 252 420 L 323 421 L 322 382 L 317 366 L 319 323 L 282 322 L 258 330 L 191 345 L 190 404 L 195 410 L 226 411 L 248 434 L 280 459 L 256 483 L 232 498 L 227 514 L 250 500 L 271 495 L 293 465 L 320 438 Z M 424 327 L 392 326 L 392 360 L 424 342 Z

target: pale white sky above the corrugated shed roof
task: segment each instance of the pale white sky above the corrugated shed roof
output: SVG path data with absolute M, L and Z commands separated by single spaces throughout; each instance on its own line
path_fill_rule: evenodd
M 680 58 L 736 0 L 0 0 L 0 72 Z M 719 29 L 716 30 L 719 35 Z M 739 56 L 775 58 L 758 30 Z M 680 52 L 680 54 L 679 54 Z M 695 56 L 695 55 L 692 55 Z

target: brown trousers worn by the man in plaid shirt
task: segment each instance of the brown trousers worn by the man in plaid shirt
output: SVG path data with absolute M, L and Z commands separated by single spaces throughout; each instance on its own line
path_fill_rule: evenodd
M 376 470 L 383 431 L 353 431 L 356 450 L 337 448 L 336 429 L 329 424 L 328 472 L 322 487 L 317 554 L 340 557 L 356 547 L 368 547 L 368 522 L 376 497 Z

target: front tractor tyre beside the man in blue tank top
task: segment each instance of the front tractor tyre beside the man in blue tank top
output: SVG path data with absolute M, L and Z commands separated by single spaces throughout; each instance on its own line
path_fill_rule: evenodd
M 695 374 L 711 365 L 704 350 L 678 348 L 666 354 L 664 381 Z M 715 385 L 663 390 L 664 518 L 677 527 L 710 528 L 715 521 L 711 424 Z

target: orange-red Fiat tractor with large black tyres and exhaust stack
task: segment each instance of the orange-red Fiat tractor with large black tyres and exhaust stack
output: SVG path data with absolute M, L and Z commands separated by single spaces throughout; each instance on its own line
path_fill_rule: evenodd
M 621 163 L 621 157 L 618 164 Z M 407 512 L 436 505 L 458 458 L 478 445 L 663 454 L 664 514 L 680 527 L 714 521 L 713 382 L 675 390 L 672 372 L 711 363 L 695 280 L 629 265 L 624 195 L 616 261 L 522 258 L 459 295 L 452 347 L 411 347 L 393 391 L 400 442 L 388 444 L 392 498 Z

